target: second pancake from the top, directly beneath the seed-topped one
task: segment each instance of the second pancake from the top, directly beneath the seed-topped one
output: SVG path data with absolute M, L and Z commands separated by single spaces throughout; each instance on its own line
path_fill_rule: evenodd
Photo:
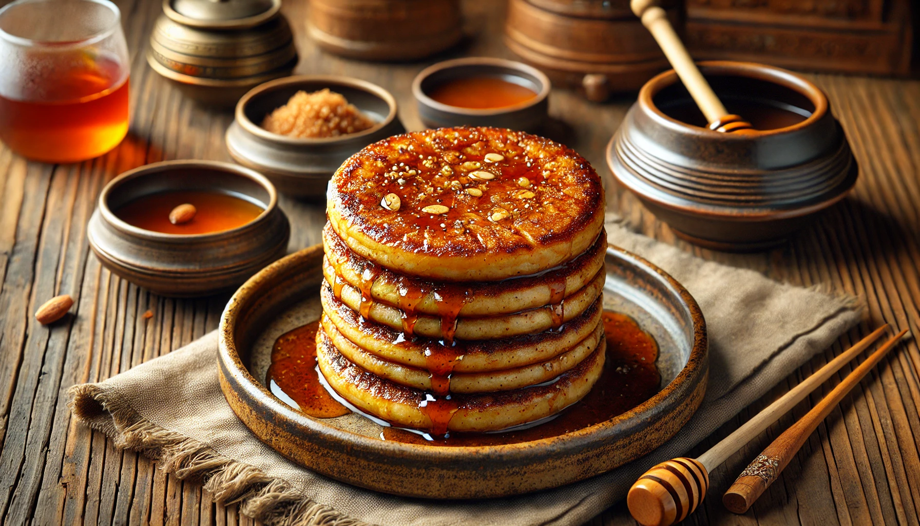
M 362 290 L 364 298 L 397 307 L 408 316 L 440 316 L 447 307 L 444 298 L 459 293 L 463 295 L 457 314 L 461 318 L 496 316 L 557 304 L 587 285 L 604 268 L 607 248 L 602 231 L 587 251 L 543 273 L 497 282 L 450 284 L 380 267 L 351 251 L 328 223 L 323 228 L 323 243 L 326 249 L 323 273 L 333 290 L 337 284 L 349 284 Z

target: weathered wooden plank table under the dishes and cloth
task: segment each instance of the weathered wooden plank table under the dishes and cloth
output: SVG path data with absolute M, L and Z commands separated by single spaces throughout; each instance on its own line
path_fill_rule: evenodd
M 3 4 L 5 2 L 0 2 Z M 166 354 L 216 328 L 227 296 L 160 298 L 99 266 L 86 221 L 102 185 L 125 169 L 171 158 L 230 160 L 229 111 L 183 99 L 144 60 L 157 0 L 120 0 L 132 53 L 132 123 L 109 155 L 77 165 L 28 162 L 0 146 L 0 521 L 22 524 L 236 524 L 235 505 L 217 505 L 201 485 L 155 469 L 77 425 L 71 385 L 103 380 Z M 417 64 L 368 64 L 322 53 L 305 37 L 305 0 L 286 2 L 297 35 L 297 73 L 370 79 L 389 89 L 408 129 L 420 129 L 409 84 L 434 60 L 459 54 L 512 56 L 501 43 L 502 3 L 467 2 L 470 39 Z M 774 251 L 730 255 L 676 240 L 609 181 L 603 150 L 632 97 L 592 104 L 556 90 L 550 113 L 558 139 L 608 179 L 609 207 L 647 235 L 707 259 L 753 268 L 801 286 L 829 286 L 863 298 L 865 321 L 838 345 L 723 426 L 696 452 L 724 437 L 802 376 L 882 321 L 920 333 L 920 82 L 813 76 L 843 123 L 861 167 L 856 190 L 813 228 Z M 319 242 L 323 206 L 284 199 L 296 250 Z M 32 314 L 47 298 L 70 294 L 75 315 L 52 328 Z M 151 310 L 154 316 L 144 318 Z M 903 345 L 814 433 L 753 510 L 734 516 L 719 495 L 765 445 L 822 396 L 812 395 L 712 473 L 710 498 L 688 520 L 719 524 L 907 524 L 920 522 L 920 350 Z M 844 372 L 848 372 L 848 368 Z M 827 390 L 823 390 L 827 392 Z M 715 497 L 713 497 L 715 496 Z M 592 524 L 633 523 L 624 504 Z

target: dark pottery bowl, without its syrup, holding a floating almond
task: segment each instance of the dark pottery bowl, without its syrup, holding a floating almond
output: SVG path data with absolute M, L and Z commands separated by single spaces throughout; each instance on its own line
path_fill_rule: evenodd
M 164 234 L 137 228 L 113 212 L 153 193 L 206 191 L 245 199 L 263 212 L 247 224 L 207 234 Z M 173 160 L 122 173 L 99 195 L 89 219 L 89 246 L 116 275 L 170 297 L 233 288 L 287 251 L 291 228 L 270 181 L 234 164 Z

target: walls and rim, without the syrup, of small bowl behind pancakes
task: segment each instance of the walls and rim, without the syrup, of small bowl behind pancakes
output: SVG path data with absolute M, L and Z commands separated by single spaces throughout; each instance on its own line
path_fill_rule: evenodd
M 536 97 L 521 104 L 486 110 L 450 106 L 431 99 L 431 90 L 458 78 L 495 77 L 529 88 Z M 431 65 L 412 81 L 412 95 L 421 122 L 429 128 L 494 126 L 533 132 L 546 120 L 551 84 L 540 70 L 527 64 L 492 57 L 469 57 Z

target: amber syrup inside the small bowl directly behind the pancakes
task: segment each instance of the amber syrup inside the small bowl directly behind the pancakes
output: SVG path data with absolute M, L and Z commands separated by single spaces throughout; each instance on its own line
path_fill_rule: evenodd
M 442 104 L 471 110 L 507 108 L 536 97 L 533 89 L 493 76 L 454 78 L 427 95 Z

